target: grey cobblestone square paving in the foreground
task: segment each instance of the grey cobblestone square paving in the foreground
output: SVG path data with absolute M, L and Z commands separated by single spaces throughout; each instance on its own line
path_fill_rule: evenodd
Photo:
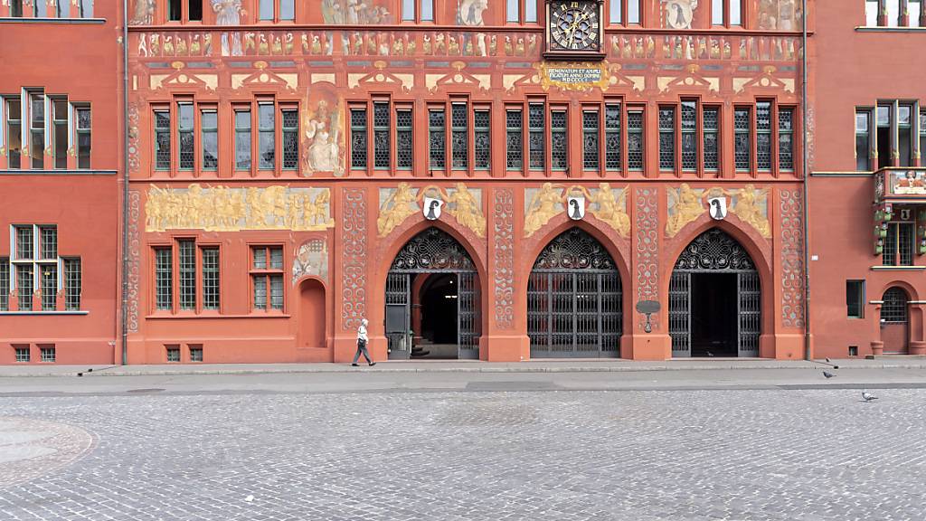
M 924 519 L 926 389 L 877 394 L 6 398 L 94 444 L 0 489 L 0 519 Z

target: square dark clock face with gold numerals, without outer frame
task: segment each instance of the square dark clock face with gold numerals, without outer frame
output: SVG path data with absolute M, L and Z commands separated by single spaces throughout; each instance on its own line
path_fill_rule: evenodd
M 550 48 L 568 51 L 597 51 L 599 15 L 594 1 L 550 2 Z

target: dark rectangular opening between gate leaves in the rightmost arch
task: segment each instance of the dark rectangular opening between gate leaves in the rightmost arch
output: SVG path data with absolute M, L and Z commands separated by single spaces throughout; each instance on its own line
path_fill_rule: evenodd
M 737 356 L 736 273 L 692 273 L 692 356 Z

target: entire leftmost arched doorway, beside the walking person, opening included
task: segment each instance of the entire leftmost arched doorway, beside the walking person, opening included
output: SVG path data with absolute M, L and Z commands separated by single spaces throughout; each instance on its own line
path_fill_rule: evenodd
M 415 235 L 386 276 L 389 359 L 478 359 L 479 302 L 479 274 L 466 248 L 437 228 Z

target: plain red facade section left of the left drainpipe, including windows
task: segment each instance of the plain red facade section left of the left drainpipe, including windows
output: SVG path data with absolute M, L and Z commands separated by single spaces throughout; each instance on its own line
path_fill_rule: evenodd
M 0 5 L 0 363 L 118 360 L 119 15 Z

